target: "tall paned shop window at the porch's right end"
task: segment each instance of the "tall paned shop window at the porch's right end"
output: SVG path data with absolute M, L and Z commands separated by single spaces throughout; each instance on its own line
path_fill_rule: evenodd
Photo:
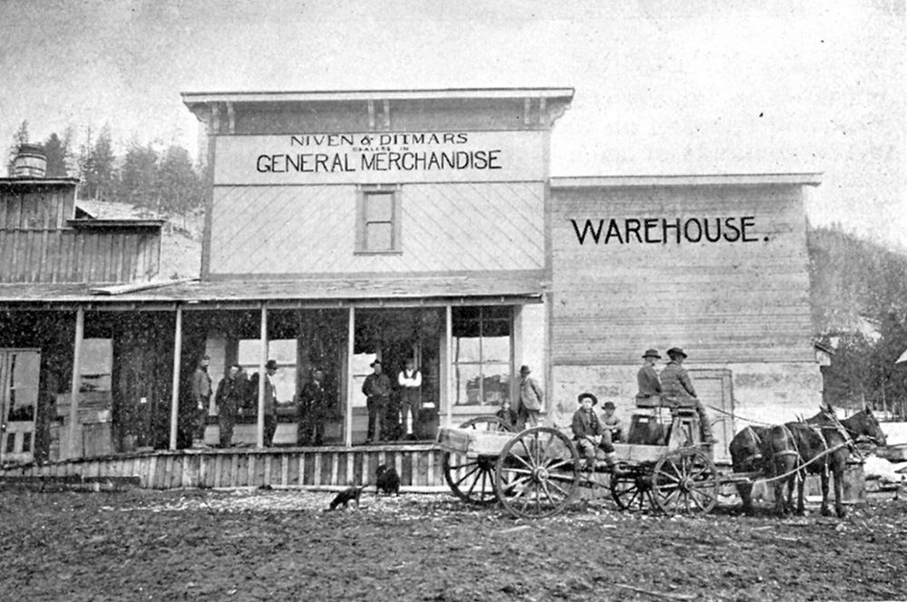
M 453 308 L 453 373 L 457 405 L 510 399 L 511 307 Z

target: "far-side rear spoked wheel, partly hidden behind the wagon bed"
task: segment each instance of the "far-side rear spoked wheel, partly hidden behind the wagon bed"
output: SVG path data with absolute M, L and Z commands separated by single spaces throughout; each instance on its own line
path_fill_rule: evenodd
M 512 432 L 513 429 L 497 416 L 478 416 L 460 425 L 461 429 L 488 432 Z M 476 506 L 488 506 L 497 498 L 494 494 L 496 456 L 469 457 L 444 452 L 444 480 L 456 497 Z

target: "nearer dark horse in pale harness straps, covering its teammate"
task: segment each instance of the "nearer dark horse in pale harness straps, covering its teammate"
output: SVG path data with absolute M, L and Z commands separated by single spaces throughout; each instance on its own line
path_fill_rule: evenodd
M 850 418 L 838 420 L 831 408 L 824 409 L 805 422 L 787 422 L 767 429 L 762 437 L 762 455 L 766 478 L 775 479 L 775 510 L 785 514 L 793 500 L 784 500 L 784 485 L 793 488 L 798 472 L 818 474 L 822 484 L 822 514 L 828 509 L 828 478 L 834 476 L 834 511 L 844 518 L 841 503 L 844 490 L 844 469 L 851 445 L 865 438 L 876 445 L 885 444 L 885 434 L 871 410 L 863 410 Z M 804 479 L 797 486 L 798 514 L 804 512 Z

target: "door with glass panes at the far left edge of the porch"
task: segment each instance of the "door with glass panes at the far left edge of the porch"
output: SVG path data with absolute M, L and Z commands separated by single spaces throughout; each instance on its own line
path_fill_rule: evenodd
M 34 460 L 41 351 L 0 349 L 0 463 Z

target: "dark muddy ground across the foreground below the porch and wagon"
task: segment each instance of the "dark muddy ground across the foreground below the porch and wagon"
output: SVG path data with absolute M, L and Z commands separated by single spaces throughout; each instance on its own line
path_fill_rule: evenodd
M 0 600 L 903 600 L 907 502 L 696 519 L 449 494 L 0 492 Z

